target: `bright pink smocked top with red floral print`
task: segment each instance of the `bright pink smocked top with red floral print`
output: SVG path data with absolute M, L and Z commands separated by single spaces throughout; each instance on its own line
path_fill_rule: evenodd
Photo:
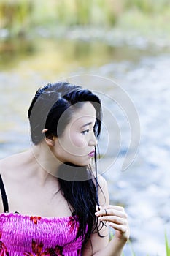
M 0 256 L 80 256 L 77 216 L 0 214 Z

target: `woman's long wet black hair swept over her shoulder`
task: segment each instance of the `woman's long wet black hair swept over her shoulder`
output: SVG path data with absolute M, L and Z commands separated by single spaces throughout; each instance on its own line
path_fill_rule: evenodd
M 75 86 L 67 82 L 48 83 L 47 86 L 36 91 L 28 110 L 32 142 L 37 145 L 45 136 L 47 138 L 51 136 L 60 137 L 66 125 L 69 124 L 75 108 L 81 108 L 82 104 L 87 101 L 91 102 L 96 109 L 94 133 L 98 138 L 101 132 L 101 101 L 96 94 L 88 89 L 82 89 L 81 86 Z M 71 106 L 73 108 L 69 108 Z M 63 113 L 66 113 L 66 115 L 62 119 L 62 125 L 58 127 L 58 121 Z M 47 129 L 45 135 L 42 134 L 43 129 Z M 74 170 L 74 181 L 66 178 L 66 174 L 70 173 L 71 167 Z M 76 180 L 76 177 L 81 175 L 83 177 L 82 181 L 77 181 L 79 178 Z M 98 232 L 100 236 L 101 226 L 95 216 L 96 205 L 98 205 L 98 188 L 101 189 L 98 185 L 97 173 L 94 176 L 90 166 L 79 167 L 72 163 L 64 163 L 59 167 L 58 177 L 61 192 L 69 206 L 74 209 L 72 215 L 75 214 L 78 217 L 77 238 L 82 238 L 83 247 L 91 233 Z

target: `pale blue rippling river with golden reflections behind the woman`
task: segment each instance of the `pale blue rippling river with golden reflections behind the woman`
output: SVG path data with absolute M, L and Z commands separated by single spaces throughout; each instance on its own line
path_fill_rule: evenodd
M 118 33 L 102 39 L 97 32 L 94 37 L 93 31 L 76 30 L 65 39 L 50 39 L 47 31 L 41 33 L 43 37 L 36 39 L 0 42 L 0 158 L 30 145 L 26 115 L 40 86 L 64 79 L 97 91 L 105 115 L 99 144 L 101 172 L 109 184 L 111 203 L 125 206 L 131 227 L 125 256 L 131 255 L 131 246 L 137 256 L 166 255 L 165 232 L 170 241 L 167 41 L 129 35 L 125 39 Z M 131 165 L 123 170 L 127 152 Z

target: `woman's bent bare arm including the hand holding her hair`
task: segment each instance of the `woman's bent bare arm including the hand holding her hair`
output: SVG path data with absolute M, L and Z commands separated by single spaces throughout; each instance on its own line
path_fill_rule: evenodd
M 90 241 L 85 245 L 82 255 L 120 256 L 123 251 L 123 246 L 125 246 L 129 238 L 127 214 L 125 214 L 123 207 L 109 205 L 107 182 L 103 177 L 100 178 L 99 184 L 103 191 L 103 193 L 101 192 L 98 195 L 102 207 L 96 211 L 96 217 L 98 217 L 100 221 L 106 222 L 107 226 L 114 228 L 115 236 L 109 241 L 108 227 L 102 227 L 100 234 L 104 237 L 98 236 L 98 233 L 93 233 L 90 236 Z

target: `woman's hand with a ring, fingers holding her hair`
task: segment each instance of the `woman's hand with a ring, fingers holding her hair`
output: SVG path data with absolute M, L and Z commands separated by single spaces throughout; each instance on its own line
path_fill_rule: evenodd
M 110 227 L 115 229 L 115 238 L 125 243 L 128 241 L 130 230 L 128 227 L 128 216 L 121 206 L 96 206 L 96 216 L 102 222 L 107 222 Z

